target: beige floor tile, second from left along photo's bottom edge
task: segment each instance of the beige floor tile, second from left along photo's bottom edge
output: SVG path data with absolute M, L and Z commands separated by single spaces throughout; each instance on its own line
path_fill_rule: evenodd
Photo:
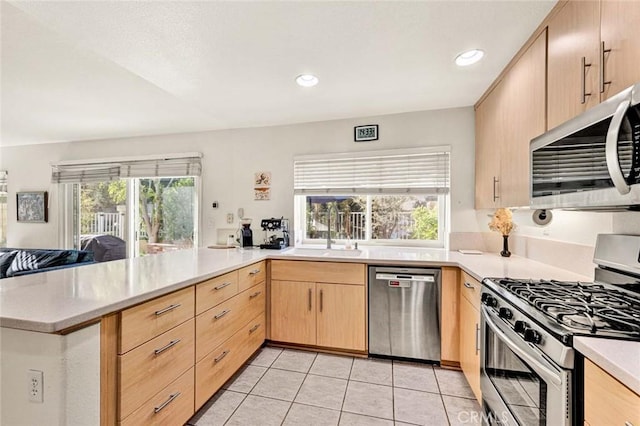
M 248 395 L 225 426 L 279 426 L 290 406 L 290 402 Z

